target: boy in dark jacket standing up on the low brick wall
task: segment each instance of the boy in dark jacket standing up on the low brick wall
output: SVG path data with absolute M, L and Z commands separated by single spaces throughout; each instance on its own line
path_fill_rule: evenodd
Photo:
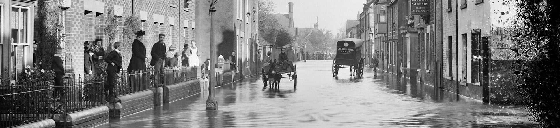
M 107 96 L 107 102 L 110 103 L 114 103 L 115 102 L 115 93 L 114 93 L 114 88 L 115 88 L 115 79 L 116 77 L 120 77 L 118 75 L 120 68 L 123 67 L 123 58 L 122 55 L 120 55 L 120 50 L 122 50 L 122 42 L 115 42 L 115 44 L 113 45 L 113 48 L 115 48 L 115 50 L 111 51 L 111 53 L 109 53 L 109 55 L 107 56 L 107 58 L 105 58 L 105 61 L 107 62 L 107 64 L 109 64 L 107 66 L 107 82 L 105 84 L 105 92 L 108 94 Z

